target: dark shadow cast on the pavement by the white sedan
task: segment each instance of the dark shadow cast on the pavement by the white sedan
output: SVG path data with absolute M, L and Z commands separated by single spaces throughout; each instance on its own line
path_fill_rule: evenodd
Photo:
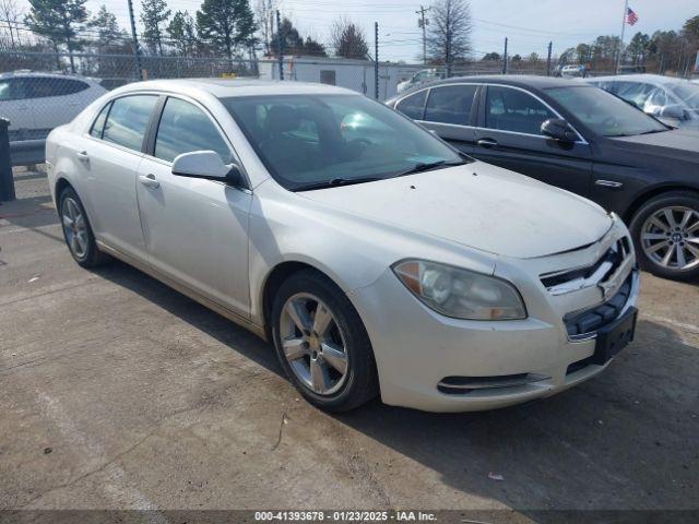
M 122 263 L 97 273 L 283 376 L 271 346 L 186 296 Z M 465 414 L 374 401 L 332 417 L 436 472 L 457 493 L 535 522 L 572 520 L 543 510 L 697 508 L 699 446 L 688 445 L 699 434 L 696 354 L 674 331 L 640 321 L 636 342 L 607 370 L 543 401 Z

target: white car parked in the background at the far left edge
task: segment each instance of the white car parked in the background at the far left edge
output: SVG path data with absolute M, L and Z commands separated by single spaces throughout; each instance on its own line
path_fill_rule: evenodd
M 10 141 L 42 140 L 107 93 L 97 81 L 64 74 L 0 74 L 0 117 L 10 120 Z

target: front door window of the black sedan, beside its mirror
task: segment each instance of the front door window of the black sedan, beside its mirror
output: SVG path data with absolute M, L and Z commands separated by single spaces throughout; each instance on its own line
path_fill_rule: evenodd
M 556 118 L 556 115 L 529 93 L 510 87 L 488 86 L 486 128 L 541 134 L 542 123 L 549 118 Z

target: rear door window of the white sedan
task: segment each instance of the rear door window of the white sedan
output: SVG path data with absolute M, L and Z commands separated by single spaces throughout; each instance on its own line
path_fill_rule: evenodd
M 155 95 L 125 96 L 114 100 L 105 123 L 103 139 L 141 151 L 145 128 L 156 102 Z

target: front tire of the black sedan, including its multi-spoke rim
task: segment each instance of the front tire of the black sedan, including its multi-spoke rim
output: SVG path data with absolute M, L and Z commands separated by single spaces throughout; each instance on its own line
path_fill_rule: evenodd
M 673 191 L 645 202 L 629 227 L 641 267 L 677 281 L 699 277 L 699 194 Z

